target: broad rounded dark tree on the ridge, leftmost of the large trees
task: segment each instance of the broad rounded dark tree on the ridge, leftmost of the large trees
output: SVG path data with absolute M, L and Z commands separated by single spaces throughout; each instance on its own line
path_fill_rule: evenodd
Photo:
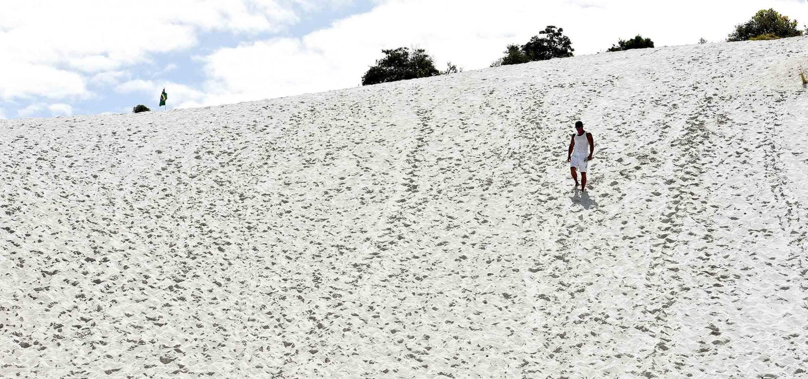
M 423 48 L 414 48 L 411 51 L 410 48 L 396 48 L 381 52 L 385 53 L 385 57 L 376 60 L 376 65 L 364 73 L 362 85 L 440 75 L 431 56 Z

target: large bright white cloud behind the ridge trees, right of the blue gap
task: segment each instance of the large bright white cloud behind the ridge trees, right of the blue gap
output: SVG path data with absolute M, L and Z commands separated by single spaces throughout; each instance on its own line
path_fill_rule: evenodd
M 549 0 L 498 2 L 389 0 L 300 39 L 281 38 L 221 48 L 204 57 L 209 80 L 204 105 L 274 98 L 360 84 L 382 48 L 426 48 L 444 68 L 451 60 L 481 69 L 507 44 L 524 44 L 546 25 L 564 29 L 576 55 L 603 52 L 642 33 L 660 47 L 723 40 L 756 10 L 775 7 L 808 21 L 797 1 Z M 661 15 L 664 15 L 662 17 Z

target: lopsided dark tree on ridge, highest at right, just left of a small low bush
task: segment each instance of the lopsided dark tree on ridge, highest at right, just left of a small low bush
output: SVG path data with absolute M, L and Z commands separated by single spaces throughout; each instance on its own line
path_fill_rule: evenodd
M 509 44 L 505 49 L 505 56 L 495 60 L 491 66 L 518 65 L 533 60 L 573 56 L 575 49 L 572 48 L 572 41 L 563 32 L 562 27 L 548 25 L 545 30 L 539 31 L 539 35 L 533 35 L 527 44 Z

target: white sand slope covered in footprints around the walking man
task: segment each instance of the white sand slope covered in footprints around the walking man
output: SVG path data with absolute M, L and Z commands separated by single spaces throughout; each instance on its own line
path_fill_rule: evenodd
M 806 51 L 2 121 L 0 375 L 804 376 Z

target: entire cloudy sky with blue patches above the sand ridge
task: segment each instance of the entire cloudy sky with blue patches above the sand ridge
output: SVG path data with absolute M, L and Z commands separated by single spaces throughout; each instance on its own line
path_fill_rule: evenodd
M 482 69 L 507 44 L 563 27 L 576 55 L 642 33 L 722 41 L 756 10 L 808 23 L 805 0 L 32 0 L 0 12 L 0 119 L 158 110 L 359 85 L 381 48 Z M 659 17 L 666 15 L 666 17 Z M 683 27 L 687 25 L 688 27 Z

